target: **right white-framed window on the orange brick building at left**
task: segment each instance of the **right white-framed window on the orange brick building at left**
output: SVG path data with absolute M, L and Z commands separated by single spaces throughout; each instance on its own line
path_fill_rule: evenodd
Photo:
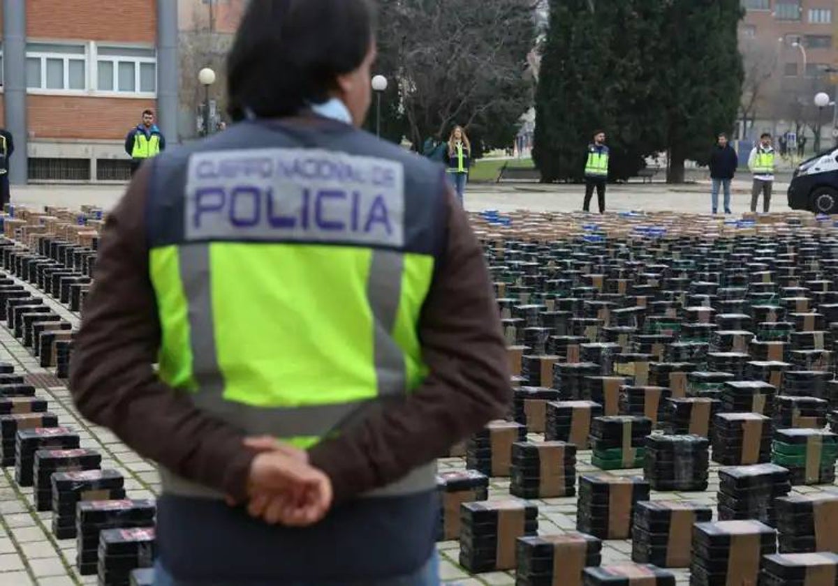
M 96 89 L 128 94 L 155 93 L 155 50 L 137 47 L 97 47 Z

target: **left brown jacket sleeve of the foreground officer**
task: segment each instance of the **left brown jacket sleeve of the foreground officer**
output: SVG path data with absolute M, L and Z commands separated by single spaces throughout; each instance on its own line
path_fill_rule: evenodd
M 252 460 L 242 434 L 196 409 L 153 370 L 160 342 L 148 276 L 149 165 L 108 215 L 70 366 L 81 414 L 191 481 L 243 498 Z

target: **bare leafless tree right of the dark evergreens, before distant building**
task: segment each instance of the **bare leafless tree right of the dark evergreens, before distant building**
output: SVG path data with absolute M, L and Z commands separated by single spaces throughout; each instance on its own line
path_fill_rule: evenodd
M 776 43 L 765 39 L 744 39 L 740 44 L 742 51 L 742 98 L 739 112 L 742 116 L 742 137 L 748 136 L 757 119 L 757 113 L 772 105 L 772 78 L 777 69 L 779 52 Z M 750 122 L 750 125 L 749 125 Z

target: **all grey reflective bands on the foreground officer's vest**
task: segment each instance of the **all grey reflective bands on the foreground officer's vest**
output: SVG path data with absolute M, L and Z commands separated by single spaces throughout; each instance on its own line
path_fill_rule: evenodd
M 194 403 L 208 413 L 234 424 L 247 434 L 271 434 L 277 437 L 316 436 L 342 429 L 370 417 L 391 401 L 406 396 L 405 357 L 392 337 L 401 300 L 404 257 L 390 250 L 374 249 L 370 263 L 367 296 L 373 314 L 374 362 L 378 396 L 375 399 L 347 404 L 319 404 L 288 408 L 256 408 L 227 401 L 225 380 L 215 347 L 215 323 L 212 311 L 209 244 L 182 244 L 178 248 L 180 278 L 189 310 L 189 341 L 193 356 L 192 370 L 199 392 Z M 206 487 L 185 481 L 161 469 L 163 490 L 184 496 L 220 498 Z M 400 481 L 373 491 L 370 496 L 392 496 L 432 490 L 436 486 L 436 465 L 416 468 Z

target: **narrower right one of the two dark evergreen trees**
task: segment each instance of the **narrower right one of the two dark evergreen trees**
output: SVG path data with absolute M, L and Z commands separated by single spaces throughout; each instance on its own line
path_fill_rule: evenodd
M 669 0 L 660 33 L 667 181 L 684 181 L 687 158 L 706 162 L 714 136 L 734 126 L 742 95 L 742 55 L 737 50 L 740 0 Z

